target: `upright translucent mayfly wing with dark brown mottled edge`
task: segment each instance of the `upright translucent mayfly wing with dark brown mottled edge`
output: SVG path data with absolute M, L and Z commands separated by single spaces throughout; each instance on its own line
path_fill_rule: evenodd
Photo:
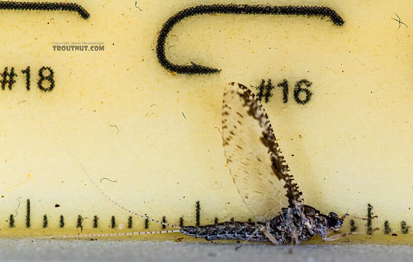
M 257 220 L 276 216 L 283 206 L 301 203 L 270 121 L 246 86 L 231 83 L 224 92 L 222 136 L 231 176 Z

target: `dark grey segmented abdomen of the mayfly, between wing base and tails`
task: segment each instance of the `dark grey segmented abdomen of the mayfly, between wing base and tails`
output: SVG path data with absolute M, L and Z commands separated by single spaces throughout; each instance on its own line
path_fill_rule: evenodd
M 205 238 L 206 240 L 246 240 L 268 242 L 268 238 L 257 230 L 260 224 L 253 222 L 222 222 L 204 226 L 186 226 L 181 228 L 181 233 L 188 236 Z

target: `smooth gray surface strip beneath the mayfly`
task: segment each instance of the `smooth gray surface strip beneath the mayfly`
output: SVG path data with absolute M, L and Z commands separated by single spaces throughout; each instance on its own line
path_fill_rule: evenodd
M 239 247 L 236 249 L 236 247 Z M 0 261 L 412 261 L 411 246 L 0 239 Z

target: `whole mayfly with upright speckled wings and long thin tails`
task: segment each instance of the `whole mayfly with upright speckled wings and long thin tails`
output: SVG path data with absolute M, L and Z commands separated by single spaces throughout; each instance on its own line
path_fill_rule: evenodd
M 224 92 L 222 109 L 222 136 L 225 156 L 231 176 L 246 206 L 254 214 L 255 222 L 223 222 L 204 226 L 176 226 L 136 214 L 108 197 L 122 209 L 150 221 L 177 228 L 177 230 L 77 235 L 65 237 L 125 236 L 180 232 L 206 240 L 246 240 L 296 243 L 320 235 L 332 241 L 355 233 L 328 236 L 337 231 L 347 216 L 336 213 L 321 214 L 306 205 L 302 193 L 282 156 L 270 121 L 261 102 L 247 87 L 229 84 Z M 358 218 L 358 217 L 354 217 Z M 364 218 L 358 218 L 363 219 Z

